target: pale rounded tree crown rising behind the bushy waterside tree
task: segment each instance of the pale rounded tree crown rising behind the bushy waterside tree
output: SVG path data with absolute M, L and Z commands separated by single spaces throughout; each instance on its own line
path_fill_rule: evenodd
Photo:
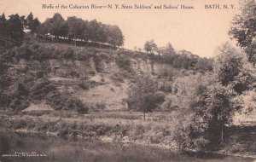
M 255 69 L 248 62 L 246 55 L 225 43 L 219 49 L 214 63 L 214 71 L 223 86 L 230 86 L 239 95 L 253 88 Z

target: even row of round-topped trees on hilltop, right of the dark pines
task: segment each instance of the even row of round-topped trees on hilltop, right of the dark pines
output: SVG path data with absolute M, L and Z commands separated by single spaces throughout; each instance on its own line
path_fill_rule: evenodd
M 124 36 L 119 26 L 102 24 L 97 20 L 82 20 L 76 16 L 67 17 L 67 20 L 64 20 L 58 13 L 40 24 L 37 32 L 75 40 L 109 43 L 113 46 L 124 44 Z

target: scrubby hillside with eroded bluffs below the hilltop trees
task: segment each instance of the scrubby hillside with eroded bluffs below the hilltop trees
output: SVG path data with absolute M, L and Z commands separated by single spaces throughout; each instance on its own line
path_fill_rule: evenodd
M 1 56 L 5 67 L 2 103 L 13 110 L 41 103 L 62 109 L 69 95 L 71 102 L 78 99 L 90 110 L 127 109 L 127 90 L 141 75 L 157 78 L 159 91 L 165 92 L 166 85 L 172 89 L 172 81 L 189 72 L 162 62 L 158 55 L 61 43 L 26 42 Z

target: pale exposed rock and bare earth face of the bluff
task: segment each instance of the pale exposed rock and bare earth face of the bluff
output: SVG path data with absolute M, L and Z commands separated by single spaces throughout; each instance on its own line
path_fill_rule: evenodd
M 168 64 L 131 58 L 131 70 L 121 68 L 115 61 L 119 55 L 110 58 L 90 56 L 85 60 L 44 59 L 44 61 L 17 59 L 15 69 L 25 73 L 40 73 L 57 84 L 60 91 L 69 91 L 92 108 L 127 108 L 126 98 L 131 78 L 127 75 L 148 73 L 162 76 L 177 72 Z M 88 84 L 87 89 L 78 88 L 80 82 Z M 93 86 L 91 86 L 93 84 Z

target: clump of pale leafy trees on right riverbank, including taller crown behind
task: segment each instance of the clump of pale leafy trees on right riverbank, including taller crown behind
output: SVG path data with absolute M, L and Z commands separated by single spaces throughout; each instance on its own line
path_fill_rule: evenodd
M 225 127 L 244 107 L 245 99 L 251 103 L 247 112 L 255 103 L 256 71 L 246 55 L 229 43 L 218 54 L 213 72 L 177 78 L 173 83 L 178 106 L 174 135 L 181 150 L 201 150 L 224 142 Z M 252 97 L 242 97 L 248 95 Z

